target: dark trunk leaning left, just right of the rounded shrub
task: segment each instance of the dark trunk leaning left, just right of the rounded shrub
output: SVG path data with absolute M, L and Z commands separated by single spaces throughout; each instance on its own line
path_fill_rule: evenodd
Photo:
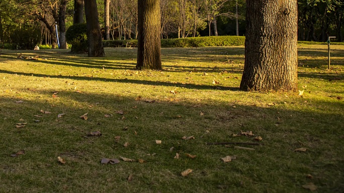
M 99 17 L 96 0 L 85 1 L 85 16 L 87 24 L 87 41 L 89 57 L 104 57 L 102 33 L 99 26 Z

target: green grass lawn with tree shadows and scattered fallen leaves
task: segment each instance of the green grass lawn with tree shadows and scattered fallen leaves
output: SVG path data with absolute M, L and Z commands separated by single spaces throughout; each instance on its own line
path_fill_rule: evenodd
M 328 71 L 327 46 L 299 45 L 302 96 L 239 91 L 243 47 L 162 49 L 162 71 L 136 71 L 129 48 L 3 50 L 0 192 L 344 192 L 344 47 L 331 48 Z

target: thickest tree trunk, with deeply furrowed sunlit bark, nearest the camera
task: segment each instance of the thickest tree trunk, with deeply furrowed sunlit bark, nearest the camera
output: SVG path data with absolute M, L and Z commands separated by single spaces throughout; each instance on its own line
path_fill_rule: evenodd
M 241 90 L 297 89 L 297 1 L 247 0 Z

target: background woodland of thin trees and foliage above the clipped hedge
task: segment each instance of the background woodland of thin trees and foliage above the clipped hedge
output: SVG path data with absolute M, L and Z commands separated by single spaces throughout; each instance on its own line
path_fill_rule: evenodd
M 80 0 L 78 0 L 80 1 Z M 97 0 L 99 22 L 105 33 L 104 1 Z M 61 0 L 3 0 L 0 2 L 0 43 L 15 44 L 14 32 L 40 31 L 28 37 L 38 44 L 56 44 L 55 22 L 59 23 Z M 245 35 L 244 0 L 161 0 L 162 39 L 199 36 Z M 67 2 L 65 27 L 73 24 L 74 1 Z M 236 14 L 237 11 L 237 14 Z M 236 20 L 238 27 L 236 27 Z M 85 20 L 84 20 L 85 21 Z M 109 12 L 110 40 L 137 39 L 137 0 L 113 0 Z M 339 0 L 298 1 L 298 40 L 343 42 L 344 3 Z

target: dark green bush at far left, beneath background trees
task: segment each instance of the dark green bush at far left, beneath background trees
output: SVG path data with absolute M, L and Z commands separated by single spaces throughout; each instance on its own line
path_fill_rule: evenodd
M 35 27 L 16 28 L 11 32 L 12 50 L 32 50 L 39 44 L 41 31 Z

